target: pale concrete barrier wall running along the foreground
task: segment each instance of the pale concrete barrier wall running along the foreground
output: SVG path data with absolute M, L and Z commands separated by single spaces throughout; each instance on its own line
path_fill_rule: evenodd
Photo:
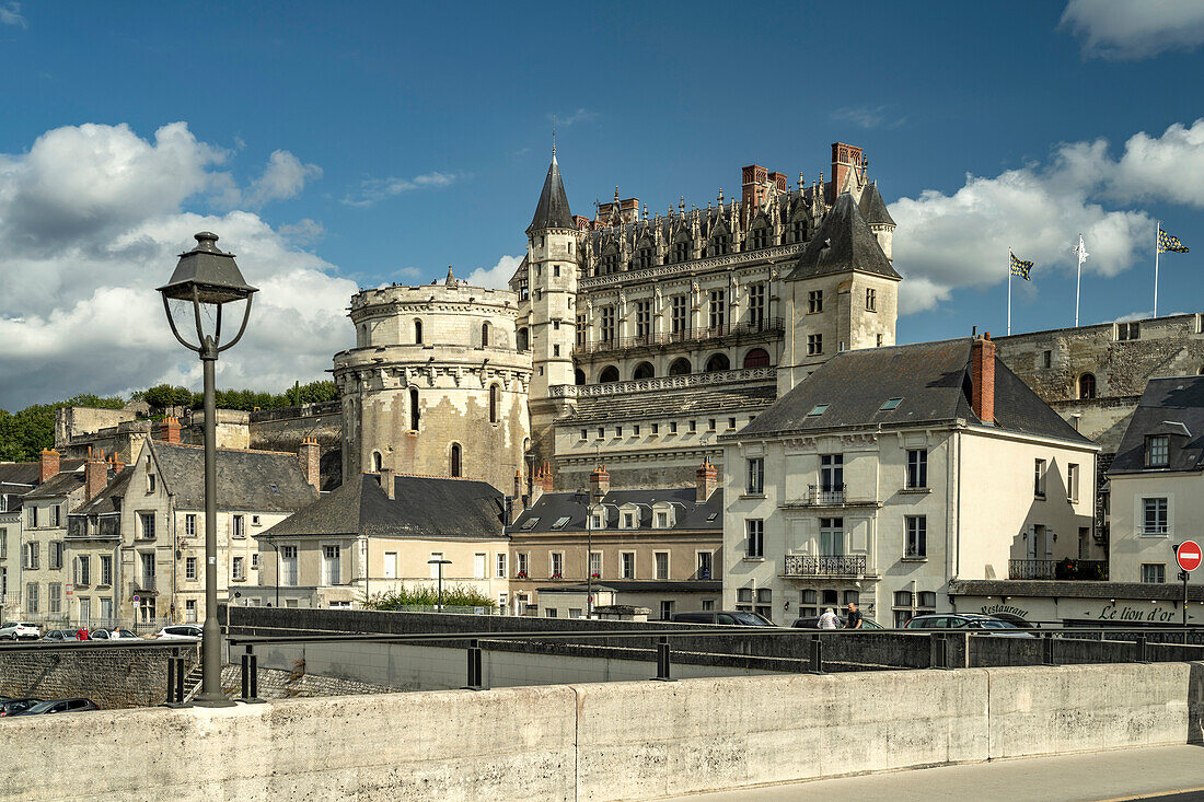
M 0 721 L 0 798 L 633 800 L 1200 737 L 1204 665 L 766 676 Z M 73 778 L 87 778 L 79 786 Z

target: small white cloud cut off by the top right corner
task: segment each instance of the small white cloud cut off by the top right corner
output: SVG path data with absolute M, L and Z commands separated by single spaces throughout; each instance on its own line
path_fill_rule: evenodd
M 1138 60 L 1204 42 L 1199 0 L 1070 0 L 1061 28 L 1088 57 Z

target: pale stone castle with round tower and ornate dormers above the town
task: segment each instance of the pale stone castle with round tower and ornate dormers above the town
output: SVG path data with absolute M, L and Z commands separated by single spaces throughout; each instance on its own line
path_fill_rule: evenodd
M 550 471 L 585 486 L 690 484 L 718 436 L 836 353 L 895 343 L 891 219 L 861 148 L 830 179 L 759 165 L 739 199 L 649 217 L 639 200 L 571 212 L 556 155 L 510 289 L 458 282 L 352 299 L 335 355 L 344 479 L 364 471 L 484 478 L 525 493 Z

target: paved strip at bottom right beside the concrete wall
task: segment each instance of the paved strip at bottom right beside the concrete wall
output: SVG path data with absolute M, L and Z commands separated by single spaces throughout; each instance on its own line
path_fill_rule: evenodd
M 697 794 L 689 802 L 1204 801 L 1204 747 L 1117 749 Z

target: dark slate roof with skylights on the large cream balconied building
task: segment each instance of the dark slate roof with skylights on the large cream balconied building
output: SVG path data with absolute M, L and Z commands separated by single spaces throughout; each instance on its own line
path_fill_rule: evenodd
M 970 408 L 972 340 L 944 340 L 837 354 L 736 435 L 824 431 L 856 426 L 911 426 L 952 421 L 980 424 Z M 883 411 L 891 399 L 895 409 Z M 818 405 L 822 414 L 809 415 Z M 1091 444 L 998 358 L 995 360 L 995 426 Z

